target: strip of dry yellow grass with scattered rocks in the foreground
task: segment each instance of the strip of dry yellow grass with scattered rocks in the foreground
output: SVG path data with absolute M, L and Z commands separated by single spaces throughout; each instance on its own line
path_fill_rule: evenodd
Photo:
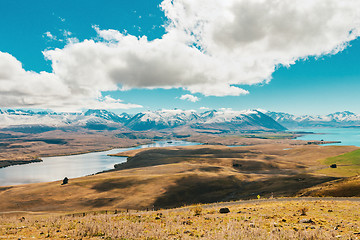
M 219 213 L 224 206 L 230 213 Z M 290 199 L 149 212 L 2 216 L 0 239 L 358 239 L 359 207 L 360 202 Z

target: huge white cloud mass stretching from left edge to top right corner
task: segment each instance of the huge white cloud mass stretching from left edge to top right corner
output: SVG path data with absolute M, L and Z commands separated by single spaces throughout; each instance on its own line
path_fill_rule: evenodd
M 95 39 L 44 51 L 52 73 L 25 72 L 5 57 L 14 66 L 0 70 L 11 76 L 5 78 L 9 85 L 1 85 L 7 95 L 0 100 L 36 105 L 54 92 L 59 104 L 70 98 L 99 102 L 102 91 L 132 88 L 238 96 L 248 93 L 244 85 L 268 83 L 277 66 L 336 54 L 360 34 L 358 0 L 164 0 L 161 8 L 169 20 L 161 38 L 94 27 Z M 30 89 L 15 89 L 22 81 Z M 36 81 L 49 94 L 31 95 Z

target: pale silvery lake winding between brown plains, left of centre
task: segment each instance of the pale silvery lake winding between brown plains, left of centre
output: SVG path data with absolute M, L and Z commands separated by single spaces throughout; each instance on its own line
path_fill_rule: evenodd
M 43 162 L 0 168 L 0 186 L 19 185 L 76 178 L 114 168 L 114 164 L 126 162 L 127 157 L 111 157 L 108 154 L 149 147 L 198 145 L 184 141 L 159 141 L 132 148 L 117 148 L 103 152 L 79 155 L 44 157 Z

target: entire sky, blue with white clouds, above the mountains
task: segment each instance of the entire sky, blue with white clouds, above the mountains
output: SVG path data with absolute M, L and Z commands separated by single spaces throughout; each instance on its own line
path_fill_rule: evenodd
M 0 108 L 360 113 L 358 0 L 1 0 Z

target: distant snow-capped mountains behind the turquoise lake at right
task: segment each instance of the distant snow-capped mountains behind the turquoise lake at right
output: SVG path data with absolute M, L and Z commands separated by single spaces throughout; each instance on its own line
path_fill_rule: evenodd
M 336 112 L 323 116 L 296 116 L 282 112 L 266 112 L 266 115 L 287 128 L 360 126 L 360 115 L 349 111 Z

